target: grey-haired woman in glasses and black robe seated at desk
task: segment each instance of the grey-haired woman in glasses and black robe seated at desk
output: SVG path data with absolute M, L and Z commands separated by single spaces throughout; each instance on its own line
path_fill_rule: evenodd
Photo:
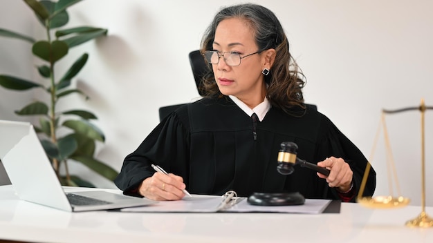
M 205 97 L 176 110 L 125 158 L 116 185 L 128 195 L 180 200 L 190 193 L 241 196 L 299 192 L 354 202 L 367 159 L 338 128 L 304 104 L 302 73 L 275 14 L 255 4 L 223 8 L 205 32 L 201 52 L 213 76 Z M 297 157 L 329 168 L 277 172 L 282 142 Z M 155 173 L 158 164 L 169 175 Z M 364 195 L 373 195 L 371 170 Z

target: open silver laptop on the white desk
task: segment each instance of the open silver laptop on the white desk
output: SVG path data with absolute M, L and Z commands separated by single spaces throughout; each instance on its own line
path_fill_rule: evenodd
M 28 122 L 0 120 L 0 160 L 20 200 L 71 212 L 156 203 L 96 189 L 65 193 L 33 125 Z M 75 200 L 80 202 L 77 204 Z

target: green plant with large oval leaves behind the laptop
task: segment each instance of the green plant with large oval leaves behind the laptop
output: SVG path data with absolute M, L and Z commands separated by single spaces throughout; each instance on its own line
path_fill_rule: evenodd
M 70 159 L 81 162 L 96 173 L 113 180 L 118 173 L 107 164 L 95 158 L 96 142 L 104 142 L 104 134 L 91 122 L 97 117 L 86 110 L 59 110 L 57 102 L 68 95 L 78 93 L 86 95 L 82 90 L 72 88 L 72 79 L 82 70 L 89 55 L 81 55 L 68 70 L 57 76 L 55 64 L 65 57 L 69 50 L 86 41 L 107 35 L 107 29 L 82 26 L 59 30 L 68 23 L 67 8 L 81 0 L 36 1 L 24 0 L 30 7 L 39 22 L 46 30 L 46 39 L 36 41 L 11 30 L 1 29 L 0 36 L 12 37 L 31 43 L 33 55 L 42 59 L 44 64 L 37 66 L 42 79 L 29 81 L 19 77 L 0 74 L 0 86 L 11 90 L 30 90 L 39 88 L 44 90 L 48 102 L 34 101 L 20 110 L 17 115 L 38 116 L 39 124 L 33 124 L 39 139 L 44 146 L 46 154 L 52 162 L 53 168 L 63 185 L 67 186 L 93 186 L 90 182 L 68 171 Z M 65 173 L 60 173 L 65 171 Z

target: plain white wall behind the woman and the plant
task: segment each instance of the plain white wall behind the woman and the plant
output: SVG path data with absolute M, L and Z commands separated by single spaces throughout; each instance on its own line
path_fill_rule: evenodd
M 62 72 L 89 52 L 77 86 L 91 100 L 76 97 L 63 106 L 82 106 L 98 115 L 107 136 L 98 158 L 120 170 L 125 155 L 158 124 L 160 106 L 199 96 L 187 55 L 199 48 L 215 12 L 236 2 L 243 1 L 87 0 L 70 9 L 70 27 L 109 29 L 108 37 L 72 49 L 58 66 Z M 432 1 L 252 2 L 264 4 L 282 22 L 307 77 L 306 101 L 317 104 L 366 157 L 382 108 L 419 106 L 422 98 L 433 106 Z M 3 0 L 0 28 L 40 35 L 29 14 L 21 1 Z M 0 38 L 0 73 L 37 77 L 28 61 L 29 47 L 16 42 Z M 0 89 L 0 119 L 26 119 L 12 110 L 30 99 Z M 427 205 L 433 206 L 433 110 L 425 113 L 425 124 Z M 420 113 L 388 115 L 387 126 L 401 193 L 421 204 Z M 376 195 L 390 194 L 383 144 L 380 139 L 371 162 L 378 173 Z M 79 165 L 73 170 L 99 187 L 114 187 Z

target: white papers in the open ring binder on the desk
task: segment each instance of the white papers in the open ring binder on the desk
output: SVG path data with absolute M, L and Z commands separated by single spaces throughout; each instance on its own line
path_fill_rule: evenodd
M 229 196 L 230 197 L 230 196 Z M 255 206 L 246 197 L 228 198 L 226 195 L 192 195 L 178 201 L 160 201 L 148 206 L 122 208 L 122 212 L 142 213 L 322 213 L 331 200 L 306 199 L 302 205 Z

